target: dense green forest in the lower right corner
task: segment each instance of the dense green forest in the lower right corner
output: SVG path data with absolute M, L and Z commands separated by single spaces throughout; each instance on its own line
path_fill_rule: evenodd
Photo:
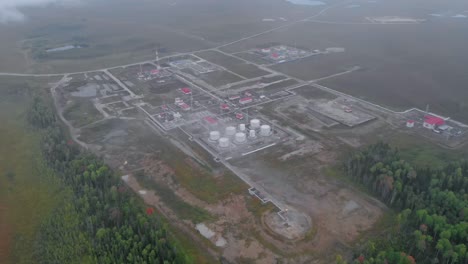
M 391 230 L 368 241 L 353 263 L 468 263 L 467 160 L 415 168 L 377 143 L 350 156 L 344 170 L 398 212 Z

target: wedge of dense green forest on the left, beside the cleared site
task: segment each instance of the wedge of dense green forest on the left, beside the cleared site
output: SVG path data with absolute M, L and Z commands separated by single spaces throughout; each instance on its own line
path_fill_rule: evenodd
M 101 159 L 75 146 L 50 103 L 36 97 L 27 120 L 69 199 L 39 231 L 39 263 L 193 263 L 152 208 L 145 208 Z

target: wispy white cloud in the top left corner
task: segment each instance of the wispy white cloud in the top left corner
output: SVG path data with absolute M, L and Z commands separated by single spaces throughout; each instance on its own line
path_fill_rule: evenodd
M 70 5 L 79 0 L 0 0 L 0 23 L 20 22 L 26 16 L 19 10 L 21 7 L 43 7 L 48 4 Z

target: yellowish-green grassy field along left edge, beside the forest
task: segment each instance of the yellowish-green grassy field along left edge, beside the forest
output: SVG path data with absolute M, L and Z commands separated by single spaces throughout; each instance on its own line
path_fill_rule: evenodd
M 44 81 L 0 78 L 0 263 L 34 263 L 41 220 L 64 198 L 25 124 L 31 89 Z

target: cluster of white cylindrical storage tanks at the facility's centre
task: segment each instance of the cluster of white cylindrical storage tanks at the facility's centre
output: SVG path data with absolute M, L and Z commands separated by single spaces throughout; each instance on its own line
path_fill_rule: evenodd
M 262 125 L 259 119 L 252 119 L 250 120 L 249 129 L 247 129 L 245 124 L 239 124 L 237 128 L 235 126 L 227 126 L 224 131 L 224 136 L 221 136 L 221 132 L 219 131 L 211 131 L 209 140 L 218 142 L 218 146 L 221 148 L 227 148 L 232 138 L 234 143 L 242 144 L 247 142 L 247 138 L 256 138 L 257 131 L 262 137 L 268 137 L 272 134 L 271 126 Z

